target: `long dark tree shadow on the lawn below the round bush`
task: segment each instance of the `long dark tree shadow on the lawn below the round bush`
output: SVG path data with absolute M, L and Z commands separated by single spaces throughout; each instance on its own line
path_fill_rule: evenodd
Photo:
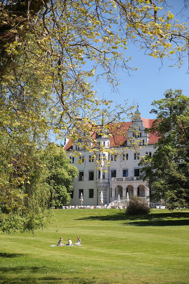
M 152 213 L 148 215 L 129 216 L 124 214 L 112 214 L 101 216 L 88 216 L 78 218 L 75 220 L 89 220 L 89 221 L 125 221 L 121 225 L 133 226 L 188 226 L 189 213 L 188 212 L 171 212 L 171 213 Z

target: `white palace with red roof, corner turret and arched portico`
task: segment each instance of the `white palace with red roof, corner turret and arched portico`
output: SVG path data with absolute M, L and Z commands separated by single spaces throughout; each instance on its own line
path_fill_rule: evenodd
M 116 201 L 118 195 L 120 195 L 121 199 L 126 199 L 127 192 L 129 195 L 134 194 L 144 198 L 150 195 L 150 189 L 146 186 L 146 182 L 140 179 L 138 162 L 142 156 L 153 155 L 155 151 L 154 144 L 159 137 L 144 132 L 145 128 L 152 126 L 154 119 L 140 117 L 138 110 L 135 114 L 136 117 L 132 122 L 123 122 L 121 124 L 125 131 L 124 137 L 120 136 L 119 133 L 114 137 L 106 136 L 107 133 L 95 137 L 98 143 L 102 143 L 104 147 L 114 148 L 117 153 L 121 153 L 119 155 L 101 153 L 102 157 L 110 161 L 107 172 L 96 169 L 96 162 L 92 158 L 92 153 L 83 150 L 82 147 L 79 149 L 82 155 L 74 157 L 72 150 L 76 149 L 77 141 L 74 145 L 72 145 L 71 140 L 67 141 L 64 150 L 67 152 L 70 162 L 79 171 L 78 177 L 74 179 L 74 191 L 70 205 L 80 205 L 81 193 L 83 194 L 83 205 L 100 205 L 101 191 L 103 192 L 104 204 L 111 204 L 111 202 Z M 137 135 L 132 132 L 134 128 L 138 131 Z M 140 151 L 139 155 L 129 147 L 127 138 L 133 136 L 133 139 L 139 140 L 139 145 L 142 145 L 142 148 L 138 150 Z M 78 164 L 78 159 L 83 162 Z

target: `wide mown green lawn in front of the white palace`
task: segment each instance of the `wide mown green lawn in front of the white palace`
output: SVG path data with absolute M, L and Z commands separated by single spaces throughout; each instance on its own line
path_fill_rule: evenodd
M 0 283 L 189 283 L 189 213 L 55 210 L 50 230 L 0 235 Z M 83 247 L 49 247 L 63 237 Z

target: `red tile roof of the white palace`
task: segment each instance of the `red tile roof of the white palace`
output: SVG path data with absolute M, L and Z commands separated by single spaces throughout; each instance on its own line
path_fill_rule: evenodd
M 141 117 L 143 121 L 143 126 L 145 128 L 150 128 L 152 126 L 152 123 L 154 122 L 155 119 L 148 119 L 148 118 L 143 118 Z M 112 133 L 112 137 L 110 137 L 110 147 L 119 147 L 121 145 L 124 145 L 127 139 L 127 130 L 129 126 L 131 125 L 131 121 L 129 122 L 122 122 L 120 125 L 119 124 L 112 124 L 109 126 L 110 133 Z M 90 132 L 93 134 L 93 138 L 96 138 L 96 133 L 93 131 Z M 158 139 L 160 138 L 159 136 L 155 134 L 148 133 L 148 145 L 155 144 Z M 70 139 L 66 145 L 64 146 L 64 150 L 72 150 L 72 139 Z

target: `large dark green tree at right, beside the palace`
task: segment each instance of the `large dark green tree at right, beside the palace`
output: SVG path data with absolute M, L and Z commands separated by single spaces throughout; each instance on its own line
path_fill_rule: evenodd
M 152 128 L 158 135 L 156 151 L 139 165 L 141 176 L 152 187 L 151 201 L 164 202 L 170 209 L 189 207 L 189 98 L 182 90 L 165 92 L 165 98 L 152 103 L 157 114 Z

